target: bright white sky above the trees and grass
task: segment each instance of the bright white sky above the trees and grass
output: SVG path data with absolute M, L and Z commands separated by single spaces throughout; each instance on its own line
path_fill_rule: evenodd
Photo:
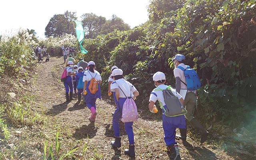
M 14 35 L 20 28 L 33 29 L 36 36 L 44 32 L 54 14 L 76 12 L 78 20 L 84 13 L 94 13 L 107 20 L 113 14 L 122 18 L 131 28 L 148 20 L 149 0 L 1 0 L 0 34 Z

